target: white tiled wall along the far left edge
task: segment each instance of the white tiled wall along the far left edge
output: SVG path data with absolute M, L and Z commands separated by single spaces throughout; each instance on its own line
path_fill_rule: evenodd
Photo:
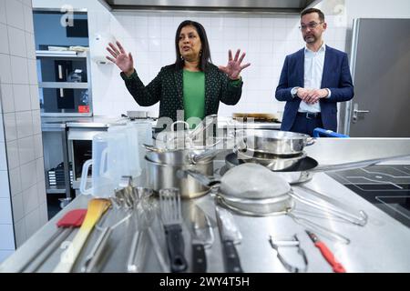
M 31 1 L 0 0 L 0 262 L 47 220 L 36 88 Z

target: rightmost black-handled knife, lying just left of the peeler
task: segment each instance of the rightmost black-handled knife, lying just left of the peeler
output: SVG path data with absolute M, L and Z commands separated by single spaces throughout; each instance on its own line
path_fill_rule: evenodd
M 235 225 L 233 216 L 228 210 L 220 206 L 216 206 L 215 210 L 220 228 L 220 240 L 222 243 L 225 270 L 227 273 L 243 273 L 240 257 L 235 247 L 235 245 L 241 243 L 241 232 Z

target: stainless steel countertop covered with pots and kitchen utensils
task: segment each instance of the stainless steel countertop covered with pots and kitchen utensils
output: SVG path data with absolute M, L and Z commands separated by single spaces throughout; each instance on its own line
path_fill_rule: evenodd
M 354 160 L 363 160 L 381 156 L 395 156 L 410 154 L 410 139 L 331 139 L 322 138 L 316 141 L 316 144 L 306 148 L 309 156 L 317 159 L 320 164 L 339 164 Z M 395 161 L 410 165 L 410 159 Z M 224 165 L 224 161 L 216 160 L 215 168 L 218 169 Z M 144 176 L 140 177 L 140 185 L 144 183 Z M 364 198 L 357 196 L 335 182 L 333 178 L 323 173 L 313 176 L 313 180 L 304 184 L 327 196 L 332 196 L 344 204 L 351 205 L 356 209 L 361 209 L 368 215 L 366 226 L 354 226 L 340 220 L 322 217 L 309 217 L 315 223 L 331 228 L 343 236 L 351 239 L 349 245 L 335 243 L 324 236 L 320 236 L 323 242 L 333 250 L 336 258 L 343 264 L 347 272 L 410 272 L 410 230 L 402 225 L 391 216 L 388 216 L 377 207 L 368 203 Z M 302 193 L 303 190 L 293 186 L 295 190 Z M 61 218 L 70 209 L 78 207 L 87 207 L 89 196 L 77 196 L 63 211 L 58 213 L 46 226 L 43 226 L 26 244 L 21 246 L 14 255 L 10 256 L 1 266 L 0 272 L 14 272 L 19 266 L 26 262 L 36 248 L 41 246 L 56 231 L 56 221 Z M 197 199 L 183 201 L 182 208 L 185 209 L 191 203 L 199 205 L 212 219 L 215 220 L 215 211 L 213 199 L 210 195 L 202 196 Z M 312 209 L 309 206 L 296 206 L 301 210 Z M 314 211 L 313 209 L 311 211 Z M 110 217 L 115 217 L 113 212 Z M 331 266 L 321 256 L 319 250 L 313 246 L 313 242 L 305 234 L 304 228 L 297 225 L 289 216 L 269 216 L 269 217 L 250 217 L 239 216 L 234 214 L 243 240 L 241 245 L 237 246 L 241 257 L 241 266 L 245 272 L 287 272 L 282 266 L 276 252 L 268 242 L 270 235 L 283 238 L 297 234 L 301 246 L 306 252 L 309 261 L 308 272 L 332 272 Z M 187 216 L 185 216 L 185 220 Z M 109 219 L 108 219 L 109 224 Z M 159 219 L 157 219 L 153 228 L 162 246 L 163 254 L 166 254 L 165 239 Z M 215 243 L 210 249 L 207 249 L 207 258 L 209 262 L 209 272 L 223 272 L 223 263 L 221 258 L 220 236 L 217 226 L 214 227 Z M 74 236 L 76 231 L 72 234 Z M 74 271 L 80 270 L 81 263 L 93 246 L 98 232 L 94 230 L 93 234 L 87 241 L 86 249 L 82 252 L 74 267 Z M 129 244 L 133 235 L 132 224 L 128 222 L 119 226 L 113 232 L 106 255 L 108 259 L 106 264 L 100 266 L 100 272 L 126 272 L 127 256 Z M 183 227 L 185 238 L 186 257 L 190 261 L 190 231 L 188 221 L 185 221 Z M 72 237 L 71 236 L 71 237 Z M 56 266 L 61 250 L 49 257 L 46 264 L 39 270 L 40 272 L 50 272 Z M 159 264 L 152 249 L 149 249 L 145 265 L 146 272 L 160 272 Z

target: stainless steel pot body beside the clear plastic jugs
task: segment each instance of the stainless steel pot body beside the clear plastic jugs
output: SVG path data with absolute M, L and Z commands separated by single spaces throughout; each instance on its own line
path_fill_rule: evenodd
M 182 198 L 196 198 L 206 195 L 210 190 L 209 186 L 200 184 L 192 176 L 179 178 L 177 172 L 179 170 L 195 170 L 203 175 L 212 176 L 212 160 L 198 164 L 166 165 L 150 161 L 146 156 L 145 162 L 147 164 L 148 187 L 155 191 L 159 191 L 162 188 L 176 187 L 179 188 Z

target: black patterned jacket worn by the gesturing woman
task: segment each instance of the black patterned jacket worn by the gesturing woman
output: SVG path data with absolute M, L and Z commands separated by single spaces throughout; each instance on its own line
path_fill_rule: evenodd
M 136 72 L 130 77 L 121 73 L 129 93 L 138 105 L 150 106 L 159 103 L 159 117 L 177 120 L 177 110 L 183 110 L 182 70 L 175 65 L 161 68 L 159 74 L 144 85 Z M 205 69 L 205 115 L 218 114 L 220 102 L 236 105 L 242 93 L 243 82 L 231 81 L 216 65 Z

